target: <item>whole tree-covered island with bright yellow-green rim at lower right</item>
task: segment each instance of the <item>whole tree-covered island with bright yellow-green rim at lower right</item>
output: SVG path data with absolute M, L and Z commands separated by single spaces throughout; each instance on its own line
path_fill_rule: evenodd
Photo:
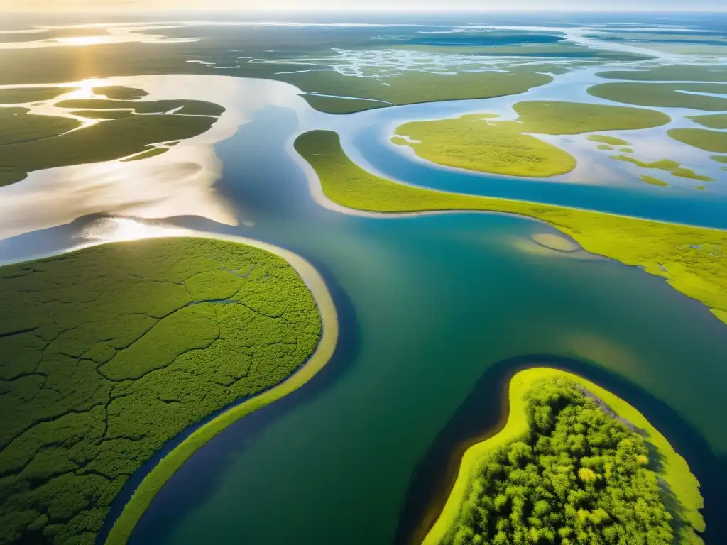
M 703 543 L 699 483 L 635 408 L 550 368 L 515 375 L 509 397 L 424 545 Z

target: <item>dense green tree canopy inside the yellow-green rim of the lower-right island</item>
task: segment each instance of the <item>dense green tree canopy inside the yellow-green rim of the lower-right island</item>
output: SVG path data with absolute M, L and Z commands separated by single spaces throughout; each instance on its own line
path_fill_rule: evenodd
M 568 379 L 526 393 L 525 437 L 483 461 L 449 543 L 672 545 L 642 437 Z

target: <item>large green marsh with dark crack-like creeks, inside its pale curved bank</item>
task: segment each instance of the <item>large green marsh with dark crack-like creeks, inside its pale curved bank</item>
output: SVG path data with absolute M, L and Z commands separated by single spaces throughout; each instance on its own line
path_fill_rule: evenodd
M 313 296 L 238 243 L 115 243 L 0 268 L 0 543 L 93 544 L 164 443 L 316 350 Z

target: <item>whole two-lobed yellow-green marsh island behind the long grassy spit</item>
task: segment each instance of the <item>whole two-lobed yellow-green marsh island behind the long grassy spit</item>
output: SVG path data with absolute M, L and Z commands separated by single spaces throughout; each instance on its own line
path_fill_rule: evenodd
M 645 129 L 669 122 L 669 116 L 643 108 L 581 102 L 534 100 L 513 106 L 515 121 L 488 114 L 436 121 L 413 121 L 396 129 L 392 141 L 417 156 L 461 169 L 525 177 L 566 174 L 576 166 L 570 153 L 533 134 L 581 134 L 616 129 Z M 624 140 L 595 135 L 596 141 Z M 624 142 L 626 143 L 626 142 Z

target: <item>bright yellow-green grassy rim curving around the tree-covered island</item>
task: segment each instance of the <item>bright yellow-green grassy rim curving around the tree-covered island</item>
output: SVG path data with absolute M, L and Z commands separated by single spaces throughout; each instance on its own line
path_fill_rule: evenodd
M 481 467 L 481 461 L 488 453 L 496 448 L 502 447 L 513 440 L 526 435 L 528 424 L 526 421 L 526 401 L 524 395 L 539 382 L 567 378 L 579 386 L 585 388 L 590 394 L 606 403 L 616 415 L 626 419 L 633 426 L 639 429 L 647 443 L 653 445 L 659 453 L 659 468 L 656 471 L 680 501 L 683 511 L 679 513 L 683 525 L 680 528 L 679 544 L 700 544 L 702 539 L 696 535 L 704 531 L 704 519 L 699 509 L 704 506 L 701 493 L 699 493 L 699 482 L 692 475 L 685 459 L 674 451 L 674 448 L 667 439 L 654 428 L 651 423 L 635 408 L 625 400 L 599 387 L 593 382 L 587 381 L 580 376 L 566 373 L 552 368 L 531 368 L 520 371 L 510 380 L 509 386 L 509 408 L 507 423 L 496 435 L 487 440 L 477 443 L 467 449 L 462 457 L 459 466 L 457 480 L 451 490 L 446 504 L 422 545 L 441 545 L 449 536 L 449 533 L 457 521 L 462 506 L 470 492 L 470 482 L 477 475 Z

